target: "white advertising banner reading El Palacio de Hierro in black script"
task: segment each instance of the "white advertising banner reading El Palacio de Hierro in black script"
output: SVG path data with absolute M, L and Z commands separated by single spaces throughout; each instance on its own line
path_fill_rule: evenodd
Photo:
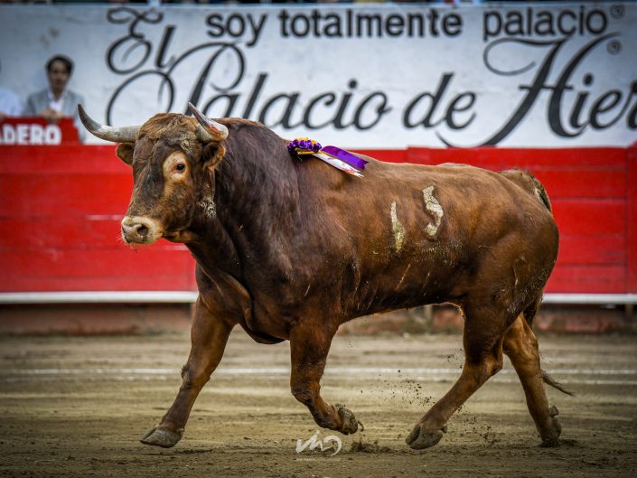
M 629 145 L 637 5 L 0 6 L 0 84 L 43 65 L 99 121 L 246 117 L 350 148 Z

